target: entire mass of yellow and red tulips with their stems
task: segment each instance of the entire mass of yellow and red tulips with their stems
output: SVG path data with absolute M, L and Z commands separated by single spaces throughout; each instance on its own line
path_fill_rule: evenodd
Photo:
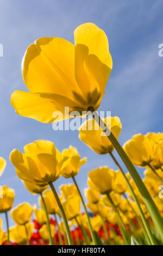
M 0 244 L 162 245 L 163 133 L 137 134 L 121 147 L 120 119 L 102 119 L 96 112 L 112 69 L 108 39 L 93 23 L 76 28 L 74 39 L 73 45 L 41 38 L 28 47 L 22 76 L 30 92 L 14 92 L 11 103 L 18 114 L 42 123 L 55 121 L 55 111 L 62 111 L 65 119 L 66 106 L 82 116 L 88 111 L 92 118 L 80 126 L 79 139 L 96 154 L 108 154 L 117 170 L 103 166 L 88 173 L 85 203 L 76 176 L 86 158 L 81 159 L 76 148 L 60 152 L 53 142 L 41 139 L 25 145 L 24 153 L 14 149 L 10 161 L 26 189 L 39 195 L 40 208 L 24 202 L 12 209 L 14 190 L 3 186 L 0 213 L 5 214 L 8 231 L 0 223 Z M 5 164 L 1 157 L 1 175 Z M 145 168 L 143 179 L 134 166 Z M 73 183 L 61 185 L 57 193 L 60 175 Z

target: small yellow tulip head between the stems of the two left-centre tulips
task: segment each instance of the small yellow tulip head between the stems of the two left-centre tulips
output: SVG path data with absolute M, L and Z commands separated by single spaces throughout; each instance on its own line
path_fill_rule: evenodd
M 81 199 L 79 196 L 68 197 L 66 201 L 62 202 L 62 205 L 68 221 L 80 215 Z

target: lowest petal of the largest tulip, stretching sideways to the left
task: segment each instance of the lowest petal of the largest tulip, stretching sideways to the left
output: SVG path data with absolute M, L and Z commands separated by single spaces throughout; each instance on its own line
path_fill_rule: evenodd
M 11 95 L 11 105 L 16 109 L 17 114 L 23 117 L 33 118 L 42 123 L 52 123 L 66 118 L 69 113 L 65 113 L 65 106 L 69 107 L 69 112 L 78 110 L 77 102 L 65 96 L 51 93 L 29 93 L 15 91 Z M 81 105 L 82 107 L 82 105 Z M 55 111 L 60 111 L 59 115 Z M 80 111 L 80 108 L 79 108 Z

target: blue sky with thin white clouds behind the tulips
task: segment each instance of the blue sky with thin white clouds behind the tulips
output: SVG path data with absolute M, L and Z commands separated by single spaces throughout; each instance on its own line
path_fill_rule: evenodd
M 116 169 L 108 155 L 97 155 L 78 139 L 78 131 L 53 131 L 52 125 L 39 123 L 15 113 L 10 104 L 14 90 L 27 90 L 22 81 L 21 61 L 26 48 L 42 36 L 58 36 L 73 42 L 73 31 L 81 23 L 93 22 L 104 29 L 109 40 L 113 69 L 99 110 L 111 111 L 121 118 L 123 129 L 119 141 L 126 142 L 135 133 L 162 131 L 163 57 L 158 45 L 163 43 L 162 0 L 1 0 L 0 44 L 0 155 L 7 168 L 0 185 L 14 188 L 14 206 L 37 202 L 17 178 L 9 162 L 12 149 L 37 139 L 49 139 L 61 151 L 73 145 L 87 163 L 80 169 L 77 181 L 83 190 L 87 172 L 108 165 Z M 142 175 L 143 169 L 139 169 Z M 64 182 L 55 182 L 58 188 Z M 0 217 L 3 217 L 1 215 Z M 10 224 L 13 224 L 10 218 Z M 5 223 L 3 223 L 5 229 Z

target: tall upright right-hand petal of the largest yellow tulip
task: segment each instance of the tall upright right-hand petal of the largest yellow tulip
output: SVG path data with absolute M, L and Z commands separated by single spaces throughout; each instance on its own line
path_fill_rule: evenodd
M 93 23 L 84 23 L 74 31 L 76 46 L 76 79 L 80 87 L 104 93 L 111 69 L 107 36 Z M 79 65 L 80 64 L 80 65 Z M 85 84 L 84 84 L 85 83 Z

